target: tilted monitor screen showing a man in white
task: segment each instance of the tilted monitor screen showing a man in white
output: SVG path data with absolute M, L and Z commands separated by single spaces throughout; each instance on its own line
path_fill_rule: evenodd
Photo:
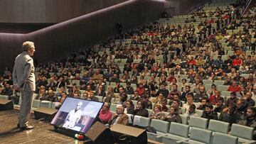
M 96 120 L 103 103 L 67 97 L 50 124 L 79 133 L 86 133 Z

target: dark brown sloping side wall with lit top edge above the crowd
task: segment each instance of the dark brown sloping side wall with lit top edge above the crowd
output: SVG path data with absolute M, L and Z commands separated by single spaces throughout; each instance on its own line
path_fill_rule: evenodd
M 35 42 L 34 59 L 36 61 L 60 60 L 70 52 L 86 48 L 87 45 L 93 45 L 115 35 L 117 22 L 122 23 L 122 29 L 127 30 L 156 21 L 164 9 L 165 2 L 158 0 L 125 1 L 122 4 L 73 18 L 33 33 L 0 33 L 0 67 L 12 68 L 14 58 L 21 52 L 21 44 L 25 40 Z M 182 10 L 178 8 L 178 12 Z

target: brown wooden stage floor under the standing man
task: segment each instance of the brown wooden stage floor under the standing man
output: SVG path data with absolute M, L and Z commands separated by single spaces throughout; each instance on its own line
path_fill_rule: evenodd
M 0 143 L 78 143 L 77 140 L 67 135 L 56 133 L 49 123 L 34 119 L 28 124 L 35 126 L 29 131 L 19 131 L 18 110 L 0 111 Z

